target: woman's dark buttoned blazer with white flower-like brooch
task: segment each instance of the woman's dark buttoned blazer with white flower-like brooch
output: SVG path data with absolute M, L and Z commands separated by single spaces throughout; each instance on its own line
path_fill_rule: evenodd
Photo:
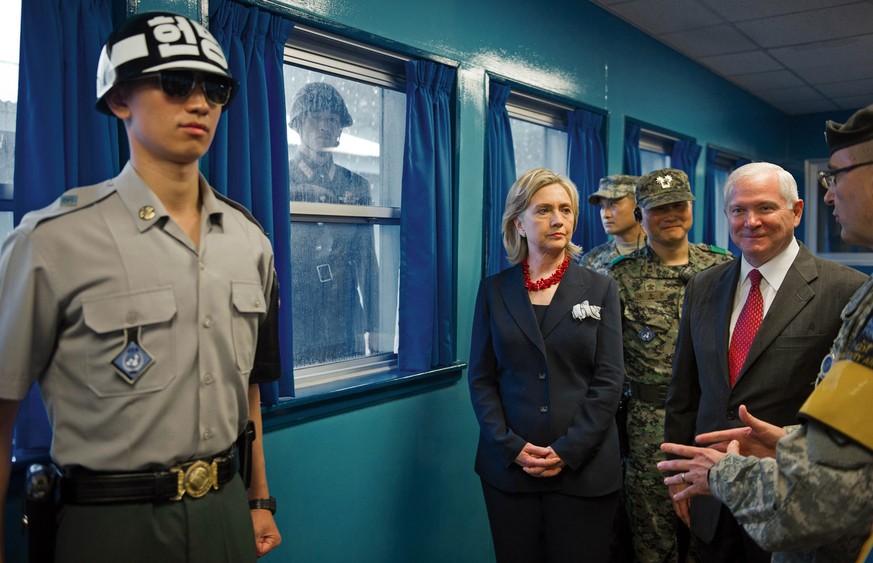
M 601 307 L 600 320 L 573 318 L 573 305 L 586 300 Z M 620 313 L 615 282 L 573 263 L 542 331 L 520 266 L 482 281 L 468 373 L 482 479 L 510 492 L 599 496 L 619 489 Z M 550 478 L 526 474 L 514 463 L 526 442 L 552 446 L 567 467 Z

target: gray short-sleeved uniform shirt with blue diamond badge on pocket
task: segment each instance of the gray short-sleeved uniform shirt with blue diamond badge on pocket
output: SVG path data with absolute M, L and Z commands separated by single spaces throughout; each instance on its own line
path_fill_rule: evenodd
M 273 254 L 202 177 L 200 193 L 199 248 L 130 164 L 28 214 L 4 243 L 0 397 L 39 380 L 57 463 L 167 467 L 241 431 Z M 113 365 L 131 339 L 152 360 L 132 380 Z

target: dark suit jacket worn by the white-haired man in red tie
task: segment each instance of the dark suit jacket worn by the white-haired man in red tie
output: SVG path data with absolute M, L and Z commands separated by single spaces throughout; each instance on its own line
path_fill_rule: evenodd
M 796 424 L 842 324 L 840 311 L 867 279 L 801 245 L 731 389 L 728 343 L 740 265 L 736 259 L 704 270 L 685 289 L 667 393 L 668 442 L 692 444 L 697 434 L 742 426 L 741 404 L 771 424 Z M 706 542 L 715 533 L 720 507 L 713 497 L 691 501 L 691 530 Z

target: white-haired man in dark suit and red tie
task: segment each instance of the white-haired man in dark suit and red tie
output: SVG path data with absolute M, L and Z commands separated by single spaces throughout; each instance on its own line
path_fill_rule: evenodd
M 667 395 L 667 442 L 692 444 L 697 434 L 742 426 L 741 404 L 774 424 L 795 424 L 840 328 L 839 311 L 866 280 L 798 244 L 803 201 L 779 166 L 742 166 L 724 193 L 742 258 L 701 272 L 686 288 Z M 684 487 L 671 486 L 671 496 Z M 701 540 L 702 560 L 770 561 L 713 497 L 674 501 L 674 508 Z

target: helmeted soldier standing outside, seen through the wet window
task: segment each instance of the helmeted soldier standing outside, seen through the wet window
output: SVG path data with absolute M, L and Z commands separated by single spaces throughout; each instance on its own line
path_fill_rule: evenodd
M 291 201 L 371 205 L 370 184 L 333 161 L 352 124 L 340 93 L 310 82 L 294 95 L 291 129 L 301 145 L 291 158 Z M 379 270 L 373 228 L 295 222 L 291 228 L 295 367 L 347 360 L 378 349 Z M 364 336 L 367 335 L 365 343 Z

